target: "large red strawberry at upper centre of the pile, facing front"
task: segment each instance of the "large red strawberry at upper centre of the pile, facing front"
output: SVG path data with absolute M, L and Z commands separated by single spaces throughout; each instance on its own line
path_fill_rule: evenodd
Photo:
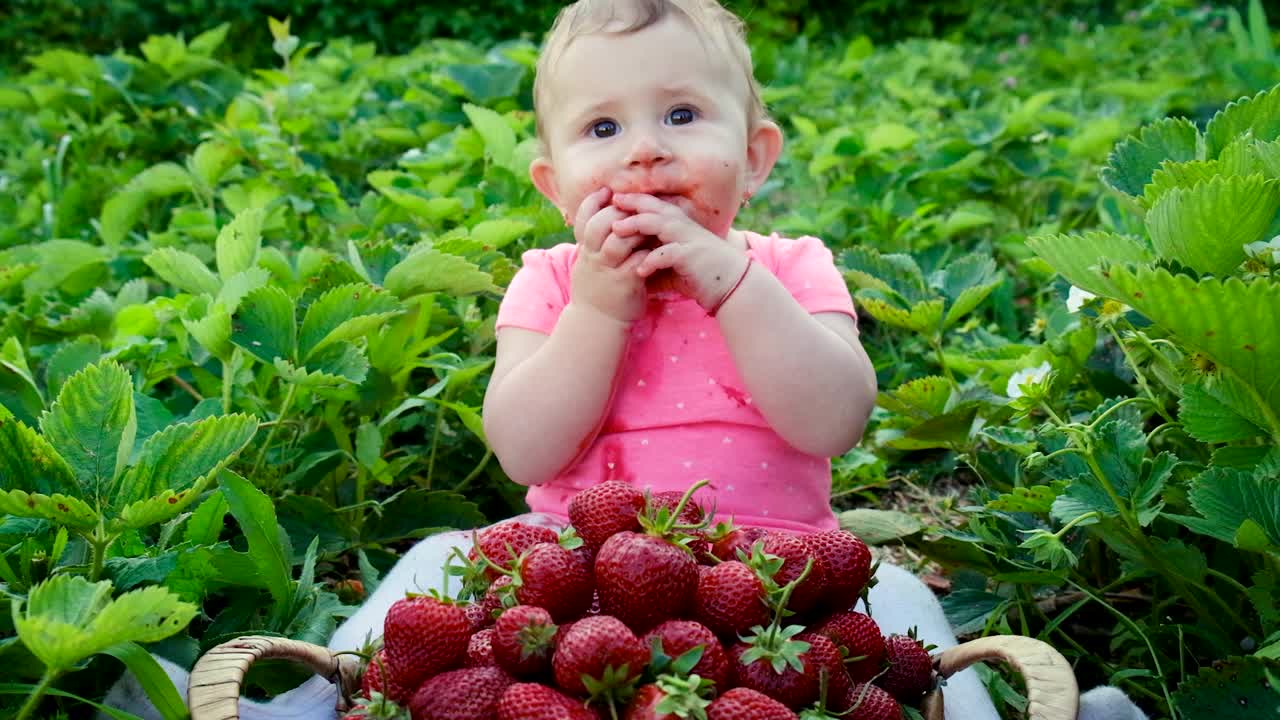
M 618 533 L 595 556 L 595 589 L 602 612 L 644 633 L 689 612 L 698 592 L 698 562 L 663 537 Z

